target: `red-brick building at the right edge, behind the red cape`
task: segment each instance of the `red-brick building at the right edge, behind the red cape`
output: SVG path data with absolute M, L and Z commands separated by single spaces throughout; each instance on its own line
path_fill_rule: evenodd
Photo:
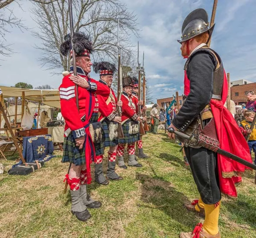
M 230 98 L 236 105 L 241 105 L 246 103 L 248 91 L 256 93 L 256 83 L 232 86 L 230 88 Z

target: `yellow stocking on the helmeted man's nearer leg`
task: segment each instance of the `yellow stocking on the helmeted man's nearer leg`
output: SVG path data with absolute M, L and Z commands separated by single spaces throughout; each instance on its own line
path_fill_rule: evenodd
M 211 234 L 216 235 L 219 233 L 218 222 L 220 214 L 220 202 L 217 208 L 214 204 L 204 204 L 205 205 L 205 222 L 203 224 L 203 229 Z

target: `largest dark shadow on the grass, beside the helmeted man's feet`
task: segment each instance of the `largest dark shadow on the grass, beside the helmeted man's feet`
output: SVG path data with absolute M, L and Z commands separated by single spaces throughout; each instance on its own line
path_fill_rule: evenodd
M 140 205 L 141 207 L 162 210 L 180 224 L 194 228 L 199 218 L 196 214 L 189 213 L 184 207 L 184 203 L 190 203 L 187 196 L 177 191 L 171 183 L 160 176 L 151 177 L 136 173 L 136 179 L 142 183 L 141 200 L 144 204 Z

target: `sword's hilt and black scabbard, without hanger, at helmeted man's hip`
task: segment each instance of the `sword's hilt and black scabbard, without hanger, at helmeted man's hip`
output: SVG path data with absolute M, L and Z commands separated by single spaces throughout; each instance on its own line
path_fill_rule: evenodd
M 180 131 L 174 131 L 174 129 L 172 127 L 168 128 L 168 131 L 170 133 L 174 133 L 175 135 L 177 135 L 179 137 L 182 137 L 183 139 L 187 140 L 187 143 L 192 142 L 193 144 L 194 143 L 196 144 L 196 143 L 199 142 L 199 138 L 197 137 L 197 135 L 192 134 L 192 135 L 189 136 L 189 135 L 184 134 L 184 133 L 182 133 Z M 202 147 L 207 148 L 207 146 L 204 146 L 204 145 L 202 145 Z M 207 148 L 207 149 L 209 149 L 209 148 Z M 227 152 L 224 149 L 214 148 L 214 149 L 210 149 L 210 150 L 212 150 L 214 152 L 217 152 L 217 153 L 219 153 L 221 155 L 224 155 L 224 156 L 226 156 L 226 157 L 228 157 L 228 158 L 230 158 L 232 160 L 235 160 L 238 163 L 243 164 L 243 165 L 245 165 L 245 166 L 247 166 L 247 167 L 249 167 L 251 169 L 256 170 L 256 165 L 255 164 L 252 164 L 252 163 L 250 163 L 250 162 L 248 162 L 248 161 L 246 161 L 246 160 L 236 156 L 235 154 Z

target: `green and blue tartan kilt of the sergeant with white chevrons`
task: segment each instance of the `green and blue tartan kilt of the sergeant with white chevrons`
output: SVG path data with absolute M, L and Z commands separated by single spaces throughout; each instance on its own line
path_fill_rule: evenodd
M 84 146 L 82 149 L 79 149 L 76 146 L 76 141 L 72 132 L 69 134 L 68 137 L 64 138 L 63 156 L 62 156 L 61 162 L 62 163 L 69 162 L 75 165 L 85 164 Z

